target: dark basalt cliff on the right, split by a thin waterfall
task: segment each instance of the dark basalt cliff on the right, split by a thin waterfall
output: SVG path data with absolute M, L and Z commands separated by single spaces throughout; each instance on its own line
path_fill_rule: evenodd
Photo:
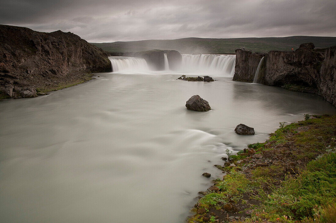
M 336 106 L 336 46 L 314 50 L 305 43 L 295 51 L 269 51 L 267 54 L 236 50 L 233 80 L 252 82 L 262 57 L 258 83 L 289 90 L 318 93 Z

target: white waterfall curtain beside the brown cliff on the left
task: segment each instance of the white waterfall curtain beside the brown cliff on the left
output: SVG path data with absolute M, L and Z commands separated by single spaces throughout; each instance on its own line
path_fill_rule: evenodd
M 109 57 L 113 72 L 144 72 L 148 71 L 147 63 L 137 57 Z

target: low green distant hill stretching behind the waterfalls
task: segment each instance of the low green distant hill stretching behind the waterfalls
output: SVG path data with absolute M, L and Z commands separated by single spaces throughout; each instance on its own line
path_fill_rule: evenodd
M 91 43 L 109 52 L 138 52 L 144 50 L 177 50 L 181 53 L 235 53 L 238 48 L 266 53 L 270 50 L 289 51 L 297 49 L 301 43 L 313 43 L 315 48 L 336 46 L 336 37 L 267 37 L 203 39 L 184 38 L 176 40 L 141 40 L 114 43 Z

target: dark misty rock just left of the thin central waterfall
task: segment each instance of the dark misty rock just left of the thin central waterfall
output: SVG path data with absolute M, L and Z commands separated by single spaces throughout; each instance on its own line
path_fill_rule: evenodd
M 163 50 L 141 51 L 141 52 L 134 53 L 133 56 L 145 59 L 148 66 L 152 70 L 164 70 L 165 69 L 165 56 L 164 56 Z

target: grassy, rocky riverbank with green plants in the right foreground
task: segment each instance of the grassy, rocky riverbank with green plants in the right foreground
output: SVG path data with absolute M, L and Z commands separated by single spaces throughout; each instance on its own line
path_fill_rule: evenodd
M 336 115 L 280 127 L 264 143 L 215 165 L 223 170 L 187 222 L 335 222 Z M 315 221 L 314 221 L 315 220 Z

